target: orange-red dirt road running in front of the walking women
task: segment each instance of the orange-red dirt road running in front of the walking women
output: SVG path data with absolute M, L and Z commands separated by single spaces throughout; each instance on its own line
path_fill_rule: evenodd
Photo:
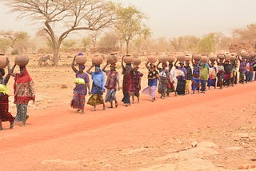
M 130 157 L 122 156 L 124 150 L 157 149 L 166 141 L 180 148 L 170 139 L 188 140 L 198 130 L 198 139 L 216 142 L 222 137 L 207 133 L 237 129 L 248 121 L 256 125 L 256 82 L 149 100 L 142 95 L 140 104 L 125 107 L 120 102 L 117 109 L 105 111 L 97 106 L 96 112 L 86 106 L 86 114 L 75 113 L 70 106 L 30 109 L 25 127 L 16 124 L 10 130 L 9 123 L 3 124 L 0 170 L 137 170 L 154 165 L 162 149 Z M 238 166 L 235 161 L 225 167 L 229 165 Z

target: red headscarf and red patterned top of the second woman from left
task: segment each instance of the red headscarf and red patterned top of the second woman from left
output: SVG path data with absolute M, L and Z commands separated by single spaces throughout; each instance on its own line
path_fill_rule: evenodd
M 23 74 L 16 74 L 14 78 L 14 103 L 28 104 L 30 100 L 35 100 L 34 82 L 26 68 L 23 68 Z

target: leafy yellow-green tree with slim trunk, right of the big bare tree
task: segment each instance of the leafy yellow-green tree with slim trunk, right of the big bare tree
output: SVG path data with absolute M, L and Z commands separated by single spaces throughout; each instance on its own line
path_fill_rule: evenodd
M 143 24 L 146 15 L 134 6 L 122 7 L 121 5 L 117 6 L 116 14 L 118 20 L 115 28 L 121 39 L 126 42 L 126 54 L 129 54 L 130 41 L 139 35 L 150 32 L 150 29 Z

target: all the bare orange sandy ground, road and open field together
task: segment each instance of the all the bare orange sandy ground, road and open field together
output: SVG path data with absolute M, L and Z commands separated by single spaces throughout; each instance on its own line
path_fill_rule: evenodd
M 91 112 L 86 105 L 82 115 L 70 108 L 71 61 L 57 68 L 30 62 L 37 99 L 25 127 L 3 123 L 1 171 L 256 170 L 256 82 L 165 100 L 158 95 L 154 102 L 142 95 L 129 107 L 120 91 L 117 109 Z

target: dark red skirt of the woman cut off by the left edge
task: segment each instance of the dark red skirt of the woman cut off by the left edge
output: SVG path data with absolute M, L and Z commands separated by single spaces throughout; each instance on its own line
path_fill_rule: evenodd
M 8 100 L 8 95 L 6 94 L 1 94 L 0 95 L 0 120 L 2 121 L 14 121 L 15 117 L 13 117 L 9 110 L 9 100 Z

